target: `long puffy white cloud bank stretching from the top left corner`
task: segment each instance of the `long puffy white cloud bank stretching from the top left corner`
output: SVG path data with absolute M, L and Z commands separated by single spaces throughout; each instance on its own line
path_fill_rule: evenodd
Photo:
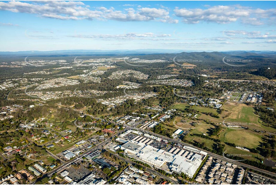
M 123 6 L 132 6 L 124 4 Z M 134 5 L 133 5 L 134 6 Z M 0 10 L 7 10 L 20 13 L 37 14 L 41 17 L 79 20 L 79 19 L 111 19 L 117 21 L 162 21 L 178 23 L 178 20 L 171 19 L 169 12 L 165 9 L 149 8 L 138 6 L 137 9 L 128 8 L 115 10 L 113 7 L 98 7 L 90 10 L 90 7 L 80 1 L 36 1 L 26 3 L 20 1 L 0 2 Z

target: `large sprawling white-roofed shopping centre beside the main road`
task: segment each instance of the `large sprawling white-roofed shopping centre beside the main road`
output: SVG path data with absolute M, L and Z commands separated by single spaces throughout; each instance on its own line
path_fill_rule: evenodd
M 128 141 L 121 146 L 125 153 L 168 173 L 185 173 L 192 178 L 207 153 L 191 147 L 183 147 L 174 153 L 154 148 L 142 142 Z M 183 151 L 184 150 L 184 151 Z

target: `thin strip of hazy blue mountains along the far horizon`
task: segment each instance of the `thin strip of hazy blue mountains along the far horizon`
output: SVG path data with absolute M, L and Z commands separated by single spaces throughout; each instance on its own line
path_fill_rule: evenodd
M 135 55 L 135 54 L 165 54 L 165 53 L 190 53 L 190 52 L 214 52 L 212 50 L 180 50 L 180 49 L 135 49 L 135 50 L 55 50 L 55 51 L 0 51 L 0 55 Z M 276 54 L 276 51 L 218 51 L 227 54 Z

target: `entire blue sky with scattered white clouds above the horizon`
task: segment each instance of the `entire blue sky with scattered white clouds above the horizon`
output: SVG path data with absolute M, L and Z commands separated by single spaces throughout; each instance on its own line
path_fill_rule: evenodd
M 275 1 L 0 1 L 0 51 L 276 50 Z

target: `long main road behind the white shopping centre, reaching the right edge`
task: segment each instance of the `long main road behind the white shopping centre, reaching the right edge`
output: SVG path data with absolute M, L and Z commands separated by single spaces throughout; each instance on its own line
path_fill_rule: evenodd
M 179 144 L 182 144 L 184 146 L 189 146 L 189 147 L 192 147 L 192 148 L 196 148 L 198 150 L 201 150 L 201 151 L 205 151 L 208 153 L 209 156 L 211 157 L 215 157 L 217 159 L 220 159 L 220 160 L 224 160 L 228 163 L 232 163 L 232 164 L 236 164 L 238 166 L 242 166 L 242 167 L 245 167 L 245 168 L 248 168 L 248 169 L 253 169 L 255 171 L 258 171 L 258 172 L 262 172 L 264 174 L 267 174 L 267 175 L 271 175 L 271 176 L 276 176 L 276 173 L 273 173 L 273 172 L 269 172 L 269 171 L 266 171 L 266 170 L 263 170 L 263 169 L 259 169 L 255 166 L 251 166 L 251 165 L 248 165 L 248 164 L 245 164 L 245 163 L 241 163 L 241 162 L 238 162 L 238 161 L 235 161 L 235 160 L 232 160 L 232 159 L 228 159 L 226 157 L 223 157 L 223 156 L 220 156 L 218 154 L 214 154 L 214 153 L 211 153 L 209 151 L 206 151 L 206 150 L 203 150 L 201 148 L 197 148 L 195 147 L 194 145 L 191 145 L 191 144 L 188 144 L 188 143 L 185 143 L 183 141 L 179 141 L 179 140 L 174 140 L 174 139 L 171 139 L 171 138 L 168 138 L 168 137 L 165 137 L 165 136 L 162 136 L 162 135 L 159 135 L 159 134 L 156 134 L 156 133 L 153 133 L 151 131 L 145 131 L 143 129 L 140 129 L 140 128 L 133 128 L 133 127 L 130 127 L 128 125 L 126 125 L 126 128 L 129 128 L 129 129 L 132 129 L 132 130 L 137 130 L 137 131 L 141 131 L 141 132 L 145 132 L 147 134 L 151 134 L 151 135 L 155 135 L 155 136 L 159 136 L 161 138 L 165 138 L 166 140 L 170 141 L 170 142 L 176 142 L 176 143 L 179 143 Z

